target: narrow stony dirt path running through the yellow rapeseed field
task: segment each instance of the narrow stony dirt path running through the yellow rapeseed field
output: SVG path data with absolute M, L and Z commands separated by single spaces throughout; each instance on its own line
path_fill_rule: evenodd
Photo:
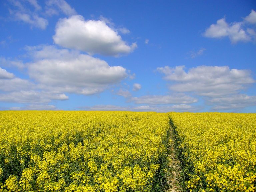
M 172 129 L 172 127 L 171 127 Z M 171 130 L 170 137 L 173 138 Z M 170 185 L 170 188 L 166 190 L 166 192 L 182 192 L 182 188 L 180 186 L 180 179 L 181 179 L 181 168 L 180 168 L 180 161 L 175 153 L 174 150 L 174 142 L 171 142 L 170 148 L 168 148 L 168 156 L 171 159 L 169 167 L 171 170 L 171 174 L 168 177 L 168 185 Z

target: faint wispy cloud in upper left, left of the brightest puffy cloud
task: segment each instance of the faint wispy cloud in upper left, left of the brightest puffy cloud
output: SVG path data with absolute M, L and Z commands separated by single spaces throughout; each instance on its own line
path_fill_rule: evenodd
M 48 21 L 37 14 L 29 15 L 27 13 L 16 12 L 14 14 L 15 19 L 30 24 L 32 27 L 40 29 L 46 29 Z

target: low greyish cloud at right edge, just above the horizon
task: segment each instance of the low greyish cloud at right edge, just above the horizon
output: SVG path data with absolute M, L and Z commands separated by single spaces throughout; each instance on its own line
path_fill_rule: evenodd
M 256 105 L 256 96 L 248 96 L 245 94 L 228 95 L 227 97 L 213 98 L 209 100 L 210 104 L 214 104 L 214 110 L 241 109 Z

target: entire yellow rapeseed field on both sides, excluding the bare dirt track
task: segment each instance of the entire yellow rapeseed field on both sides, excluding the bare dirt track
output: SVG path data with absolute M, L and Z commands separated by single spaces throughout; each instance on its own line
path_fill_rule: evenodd
M 163 191 L 170 143 L 184 191 L 256 190 L 256 114 L 2 111 L 0 133 L 1 192 Z

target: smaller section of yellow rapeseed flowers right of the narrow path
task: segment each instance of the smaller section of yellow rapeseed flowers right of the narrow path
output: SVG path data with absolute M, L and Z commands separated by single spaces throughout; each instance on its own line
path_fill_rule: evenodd
M 188 191 L 256 190 L 256 114 L 169 113 Z

